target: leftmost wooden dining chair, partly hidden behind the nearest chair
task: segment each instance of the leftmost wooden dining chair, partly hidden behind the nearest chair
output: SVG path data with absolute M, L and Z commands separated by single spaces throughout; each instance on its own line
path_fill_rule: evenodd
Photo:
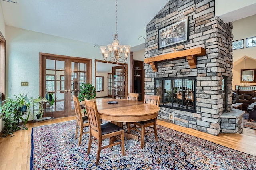
M 78 139 L 78 146 L 81 145 L 81 140 L 83 134 L 89 133 L 89 131 L 84 132 L 84 127 L 89 126 L 88 117 L 82 116 L 81 107 L 79 104 L 79 99 L 77 96 L 73 96 L 75 113 L 76 113 L 76 134 L 75 139 L 77 138 L 78 130 L 79 130 L 79 139 Z

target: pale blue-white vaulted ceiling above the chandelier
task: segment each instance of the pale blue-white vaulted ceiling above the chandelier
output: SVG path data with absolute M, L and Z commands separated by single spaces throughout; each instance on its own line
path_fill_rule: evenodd
M 107 45 L 116 28 L 115 0 L 0 1 L 7 26 L 72 40 Z M 144 44 L 146 25 L 169 0 L 118 0 L 117 34 L 120 43 Z M 138 39 L 139 38 L 139 39 Z

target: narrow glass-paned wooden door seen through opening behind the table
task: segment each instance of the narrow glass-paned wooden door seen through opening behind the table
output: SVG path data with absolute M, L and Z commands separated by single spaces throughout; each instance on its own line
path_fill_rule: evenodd
M 112 73 L 113 73 L 113 92 L 112 92 L 112 98 L 114 99 L 125 99 L 126 91 L 126 70 L 125 65 L 112 67 Z

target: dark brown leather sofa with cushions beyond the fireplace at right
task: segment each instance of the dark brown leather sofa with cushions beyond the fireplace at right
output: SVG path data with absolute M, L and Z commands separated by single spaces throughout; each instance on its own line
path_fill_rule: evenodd
M 256 93 L 253 90 L 233 90 L 239 96 L 238 103 L 242 103 L 242 109 L 247 110 L 247 107 L 256 102 Z

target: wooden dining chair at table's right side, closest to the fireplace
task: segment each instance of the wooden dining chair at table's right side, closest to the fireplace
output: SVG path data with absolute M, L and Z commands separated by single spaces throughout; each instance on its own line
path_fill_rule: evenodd
M 155 96 L 155 95 L 144 95 L 144 96 L 145 96 L 144 103 L 150 103 L 152 105 L 159 106 L 160 96 Z M 130 133 L 131 129 L 136 130 L 137 132 L 141 133 L 140 148 L 144 148 L 144 136 L 146 136 L 150 133 L 155 134 L 156 142 L 158 142 L 157 131 L 156 131 L 156 120 L 157 120 L 157 118 L 150 119 L 148 121 L 128 123 L 128 133 Z M 132 127 L 131 124 L 133 124 L 134 127 Z M 151 127 L 152 125 L 154 125 L 154 127 Z M 146 131 L 145 131 L 146 127 L 153 128 L 154 130 L 146 133 Z M 139 130 L 139 128 L 140 128 L 140 130 Z

